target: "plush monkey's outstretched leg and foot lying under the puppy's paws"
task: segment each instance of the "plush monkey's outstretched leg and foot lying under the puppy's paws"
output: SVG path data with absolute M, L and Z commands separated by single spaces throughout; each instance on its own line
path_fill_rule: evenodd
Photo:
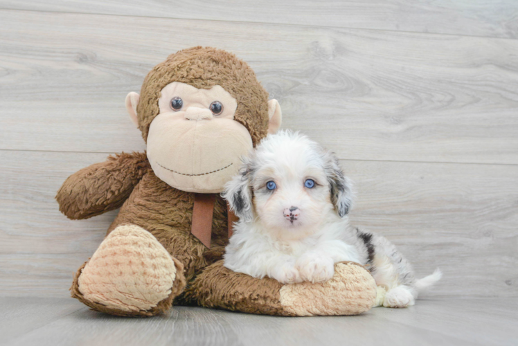
M 376 301 L 376 284 L 359 264 L 337 263 L 328 282 L 280 284 L 235 273 L 223 261 L 208 266 L 186 295 L 204 307 L 275 316 L 357 315 Z

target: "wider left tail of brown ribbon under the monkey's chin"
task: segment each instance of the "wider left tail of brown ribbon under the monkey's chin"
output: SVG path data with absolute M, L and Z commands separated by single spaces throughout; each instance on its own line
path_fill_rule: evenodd
M 215 194 L 195 194 L 193 222 L 190 233 L 193 233 L 207 248 L 211 248 L 212 217 L 215 199 Z

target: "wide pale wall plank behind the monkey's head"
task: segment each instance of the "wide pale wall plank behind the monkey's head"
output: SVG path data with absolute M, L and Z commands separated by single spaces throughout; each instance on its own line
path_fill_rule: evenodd
M 0 149 L 143 149 L 125 95 L 197 44 L 249 62 L 283 126 L 340 158 L 518 164 L 517 40 L 17 10 L 0 10 Z

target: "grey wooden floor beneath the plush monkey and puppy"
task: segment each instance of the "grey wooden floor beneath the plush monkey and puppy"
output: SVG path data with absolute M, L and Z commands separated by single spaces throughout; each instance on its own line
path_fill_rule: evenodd
M 79 302 L 71 304 L 71 299 L 48 298 L 2 298 L 0 309 L 0 320 L 7 322 L 0 325 L 0 331 L 8 336 L 4 336 L 8 345 L 518 343 L 517 298 L 420 300 L 407 309 L 375 308 L 359 316 L 307 318 L 256 316 L 196 307 L 175 307 L 168 315 L 155 318 L 120 318 L 89 311 Z M 63 311 L 71 313 L 63 316 Z

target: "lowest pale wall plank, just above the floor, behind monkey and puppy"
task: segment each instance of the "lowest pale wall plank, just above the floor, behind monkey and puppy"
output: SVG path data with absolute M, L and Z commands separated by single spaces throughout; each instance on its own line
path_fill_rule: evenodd
M 116 212 L 60 214 L 64 179 L 105 154 L 0 151 L 0 295 L 66 297 L 72 274 Z M 351 223 L 385 235 L 419 277 L 445 275 L 431 296 L 518 296 L 518 166 L 341 161 L 357 183 Z

